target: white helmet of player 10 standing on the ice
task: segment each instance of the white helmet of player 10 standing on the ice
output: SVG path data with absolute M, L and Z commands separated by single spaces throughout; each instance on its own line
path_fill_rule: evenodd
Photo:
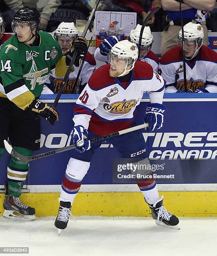
M 125 59 L 126 67 L 122 74 L 119 76 L 122 77 L 126 72 L 134 68 L 135 62 L 138 59 L 138 48 L 135 43 L 130 42 L 129 40 L 122 40 L 112 46 L 112 49 L 108 55 L 108 62 L 111 63 L 112 58 Z M 130 67 L 127 69 L 127 67 Z

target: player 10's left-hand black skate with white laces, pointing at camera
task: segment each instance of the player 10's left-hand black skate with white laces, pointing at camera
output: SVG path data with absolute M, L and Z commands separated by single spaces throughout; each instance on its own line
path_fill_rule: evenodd
M 69 216 L 71 214 L 71 202 L 60 201 L 60 207 L 55 220 L 55 227 L 58 229 L 58 234 L 60 235 L 62 229 L 67 228 L 69 221 Z

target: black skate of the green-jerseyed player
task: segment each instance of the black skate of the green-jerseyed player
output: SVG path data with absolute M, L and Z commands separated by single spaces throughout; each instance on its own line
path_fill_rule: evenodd
M 5 195 L 3 217 L 16 220 L 35 220 L 35 208 L 24 205 L 19 197 Z

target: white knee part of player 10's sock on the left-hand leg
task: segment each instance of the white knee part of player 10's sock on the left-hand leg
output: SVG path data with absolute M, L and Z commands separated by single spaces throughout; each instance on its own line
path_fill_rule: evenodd
M 87 171 L 89 168 L 90 168 L 90 162 L 85 162 L 75 158 L 70 158 L 67 164 L 67 168 L 65 170 L 65 174 L 68 177 L 80 182 L 87 174 Z

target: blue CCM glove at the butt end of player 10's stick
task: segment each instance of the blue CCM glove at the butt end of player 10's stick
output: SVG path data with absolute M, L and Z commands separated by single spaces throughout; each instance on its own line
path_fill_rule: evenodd
M 154 131 L 160 129 L 164 122 L 164 114 L 167 108 L 159 103 L 149 103 L 146 108 L 144 121 L 148 123 L 148 131 Z

